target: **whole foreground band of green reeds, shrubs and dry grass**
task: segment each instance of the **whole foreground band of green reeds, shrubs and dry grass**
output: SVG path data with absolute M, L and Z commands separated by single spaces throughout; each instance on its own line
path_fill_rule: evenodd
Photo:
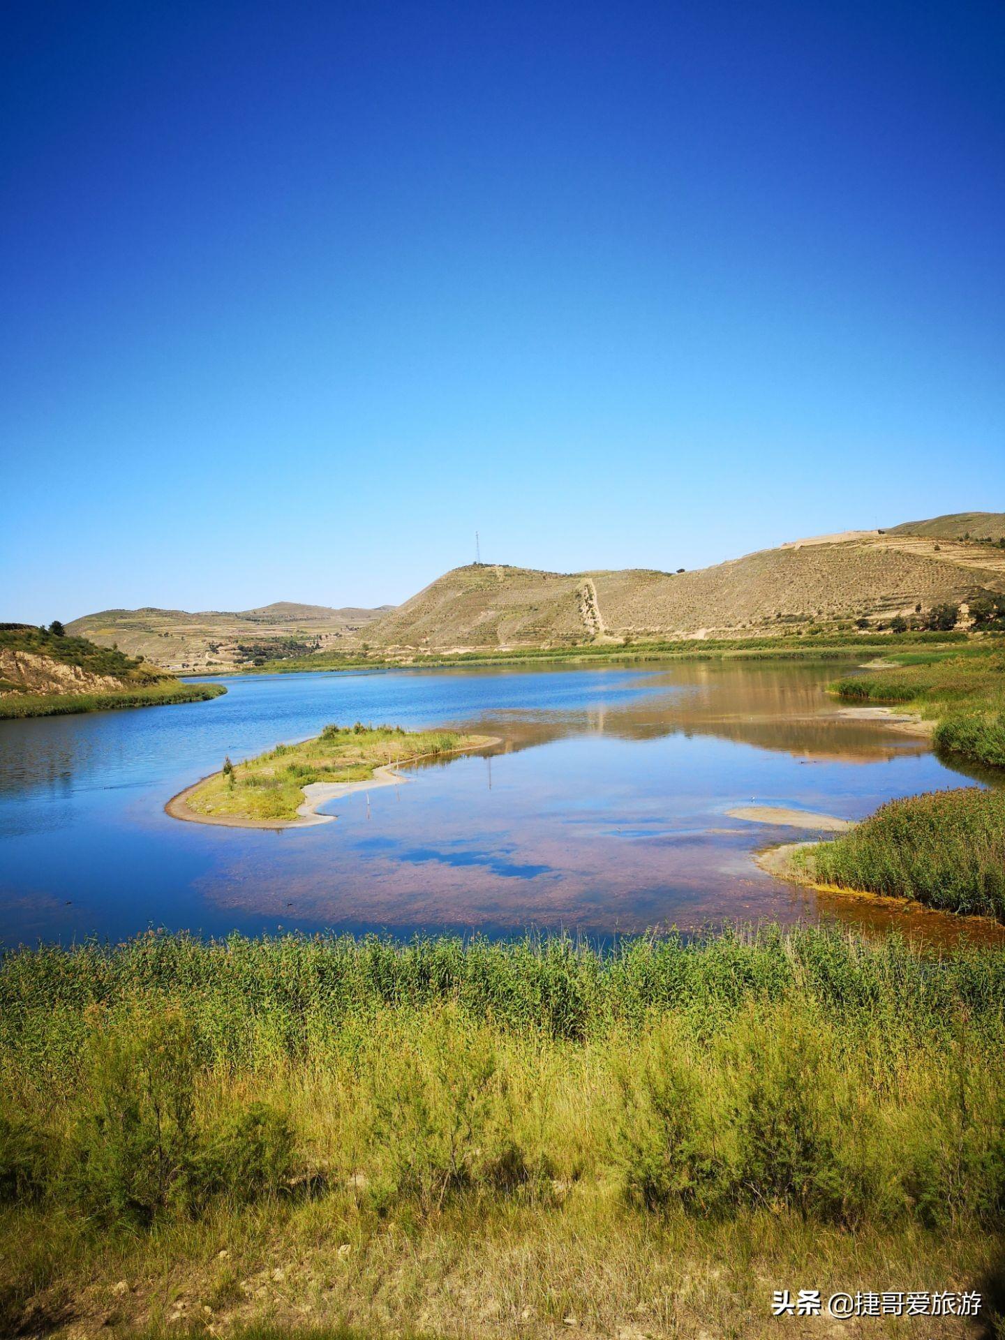
M 997 949 L 40 947 L 0 1076 L 0 1331 L 761 1335 L 787 1272 L 974 1284 L 1005 1222 Z

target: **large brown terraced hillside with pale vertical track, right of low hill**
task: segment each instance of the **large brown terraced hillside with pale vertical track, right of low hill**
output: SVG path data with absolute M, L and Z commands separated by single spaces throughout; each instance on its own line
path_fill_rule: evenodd
M 1005 591 L 1005 548 L 899 529 L 852 531 L 694 572 L 470 564 L 433 582 L 364 635 L 374 647 L 442 651 L 764 635 L 854 619 L 880 626 L 896 615 L 913 618 L 919 606 L 965 606 L 978 591 Z

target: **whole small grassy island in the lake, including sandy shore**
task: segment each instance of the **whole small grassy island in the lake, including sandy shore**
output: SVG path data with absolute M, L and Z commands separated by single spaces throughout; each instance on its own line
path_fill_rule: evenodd
M 225 760 L 220 772 L 168 804 L 176 819 L 237 827 L 280 828 L 326 821 L 319 804 L 363 785 L 398 780 L 389 769 L 419 758 L 484 749 L 490 736 L 456 730 L 402 730 L 401 726 L 326 726 L 314 740 L 276 745 L 240 764 Z M 306 788 L 311 788 L 310 792 Z

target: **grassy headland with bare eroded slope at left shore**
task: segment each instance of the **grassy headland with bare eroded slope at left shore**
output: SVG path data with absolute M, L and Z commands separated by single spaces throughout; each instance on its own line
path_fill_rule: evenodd
M 205 702 L 221 693 L 220 683 L 182 683 L 142 657 L 71 638 L 58 622 L 0 624 L 0 720 Z

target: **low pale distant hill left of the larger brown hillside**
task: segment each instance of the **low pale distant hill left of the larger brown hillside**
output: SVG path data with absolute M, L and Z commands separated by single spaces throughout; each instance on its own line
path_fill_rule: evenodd
M 168 670 L 212 671 L 330 651 L 363 634 L 368 623 L 391 608 L 331 610 L 280 600 L 237 614 L 103 610 L 75 619 L 67 631 L 130 657 L 146 657 Z

